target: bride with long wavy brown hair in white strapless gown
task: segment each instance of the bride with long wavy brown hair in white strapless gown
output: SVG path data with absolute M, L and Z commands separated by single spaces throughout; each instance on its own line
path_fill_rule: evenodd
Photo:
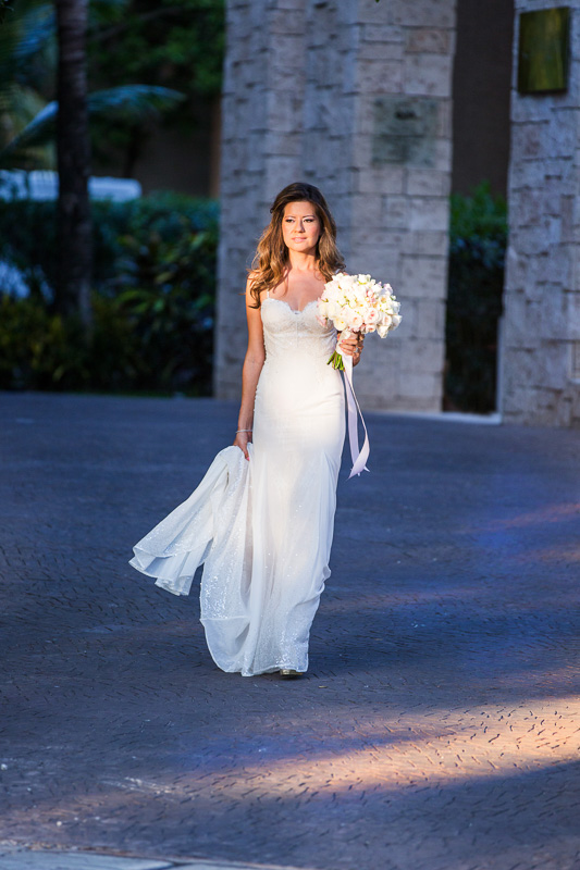
M 246 287 L 248 349 L 232 447 L 189 496 L 135 545 L 131 564 L 176 595 L 203 563 L 201 622 L 219 668 L 244 676 L 308 669 L 324 582 L 344 442 L 344 390 L 317 320 L 343 268 L 324 197 L 291 184 L 275 198 Z M 360 359 L 362 338 L 340 343 Z

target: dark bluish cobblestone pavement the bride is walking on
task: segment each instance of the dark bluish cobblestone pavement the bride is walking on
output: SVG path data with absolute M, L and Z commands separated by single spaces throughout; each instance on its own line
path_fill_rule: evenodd
M 307 678 L 212 663 L 132 545 L 211 400 L 0 395 L 0 836 L 320 870 L 580 868 L 580 433 L 370 415 Z

